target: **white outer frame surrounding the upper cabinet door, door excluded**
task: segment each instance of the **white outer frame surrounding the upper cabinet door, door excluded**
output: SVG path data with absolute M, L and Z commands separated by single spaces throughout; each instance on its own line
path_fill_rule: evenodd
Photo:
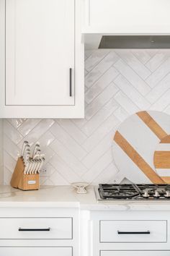
M 84 118 L 84 39 L 81 35 L 83 3 L 75 1 L 74 105 L 5 105 L 5 0 L 0 0 L 0 118 Z

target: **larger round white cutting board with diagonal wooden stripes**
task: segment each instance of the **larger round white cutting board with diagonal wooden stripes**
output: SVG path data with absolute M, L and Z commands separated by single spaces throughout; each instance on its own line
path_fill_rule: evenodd
M 112 145 L 118 174 L 134 183 L 166 183 L 155 170 L 153 155 L 169 134 L 170 116 L 159 111 L 140 111 L 123 121 Z

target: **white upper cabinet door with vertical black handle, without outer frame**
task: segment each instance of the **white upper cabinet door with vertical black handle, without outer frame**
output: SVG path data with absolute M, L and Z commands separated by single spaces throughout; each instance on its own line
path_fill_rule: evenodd
M 6 0 L 6 106 L 74 105 L 74 0 Z

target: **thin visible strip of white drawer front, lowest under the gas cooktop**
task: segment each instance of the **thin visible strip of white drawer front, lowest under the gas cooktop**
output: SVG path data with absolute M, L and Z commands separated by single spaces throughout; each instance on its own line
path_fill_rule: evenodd
M 101 251 L 100 256 L 169 256 L 170 251 Z

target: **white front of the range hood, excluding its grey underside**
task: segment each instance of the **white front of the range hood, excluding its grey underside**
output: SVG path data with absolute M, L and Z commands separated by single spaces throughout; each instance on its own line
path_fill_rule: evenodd
M 169 0 L 86 0 L 85 33 L 170 33 Z

